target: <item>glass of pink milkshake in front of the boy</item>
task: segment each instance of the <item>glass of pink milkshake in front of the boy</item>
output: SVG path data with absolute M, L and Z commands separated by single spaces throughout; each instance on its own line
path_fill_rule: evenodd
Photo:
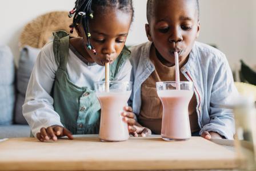
M 163 140 L 190 139 L 189 102 L 193 93 L 193 82 L 157 82 L 157 94 L 163 105 L 161 129 Z

